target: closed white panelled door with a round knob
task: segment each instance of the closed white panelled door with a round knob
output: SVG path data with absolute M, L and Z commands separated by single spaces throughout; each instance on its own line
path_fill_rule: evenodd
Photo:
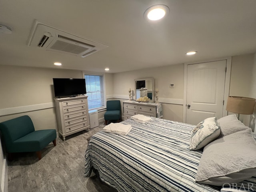
M 186 123 L 196 125 L 209 117 L 221 118 L 226 60 L 190 64 L 187 72 Z

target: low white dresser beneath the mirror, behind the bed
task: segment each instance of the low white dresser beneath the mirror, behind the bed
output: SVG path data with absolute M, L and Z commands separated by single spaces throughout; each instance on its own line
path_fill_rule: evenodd
M 124 101 L 124 119 L 130 119 L 131 116 L 142 114 L 145 116 L 162 118 L 162 104 L 151 102 Z

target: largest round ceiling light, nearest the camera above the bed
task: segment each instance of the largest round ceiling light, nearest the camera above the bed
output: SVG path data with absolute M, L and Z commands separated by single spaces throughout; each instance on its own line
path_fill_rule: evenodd
M 152 21 L 160 20 L 170 12 L 166 5 L 154 5 L 144 12 L 144 18 Z

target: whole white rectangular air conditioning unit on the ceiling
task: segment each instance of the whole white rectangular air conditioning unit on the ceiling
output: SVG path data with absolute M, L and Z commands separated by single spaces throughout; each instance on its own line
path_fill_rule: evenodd
M 86 40 L 36 21 L 28 40 L 28 46 L 86 57 L 108 46 Z

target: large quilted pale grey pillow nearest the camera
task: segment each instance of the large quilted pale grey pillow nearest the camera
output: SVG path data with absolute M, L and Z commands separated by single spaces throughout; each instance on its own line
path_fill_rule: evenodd
M 256 176 L 256 142 L 250 128 L 219 138 L 204 147 L 196 182 L 222 186 Z

